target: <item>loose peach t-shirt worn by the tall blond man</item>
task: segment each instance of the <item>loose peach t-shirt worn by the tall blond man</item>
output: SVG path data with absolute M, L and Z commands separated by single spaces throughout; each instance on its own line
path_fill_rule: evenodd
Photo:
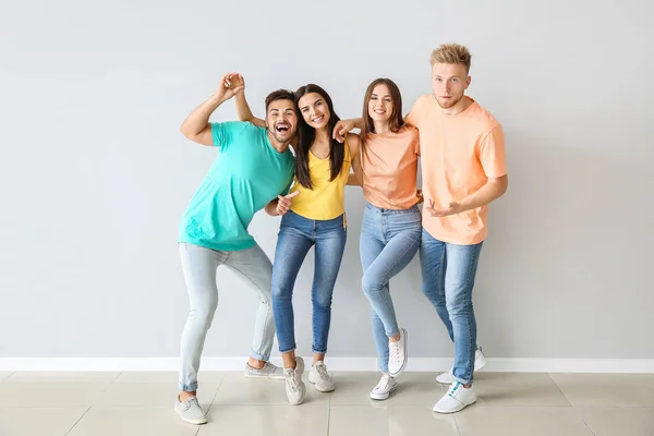
M 435 209 L 445 209 L 450 202 L 479 191 L 488 178 L 507 173 L 501 125 L 470 100 L 472 105 L 463 112 L 448 116 L 434 95 L 424 95 L 405 118 L 420 131 L 423 195 L 425 204 L 434 202 Z M 487 205 L 443 218 L 424 213 L 423 227 L 439 241 L 473 245 L 487 235 Z

